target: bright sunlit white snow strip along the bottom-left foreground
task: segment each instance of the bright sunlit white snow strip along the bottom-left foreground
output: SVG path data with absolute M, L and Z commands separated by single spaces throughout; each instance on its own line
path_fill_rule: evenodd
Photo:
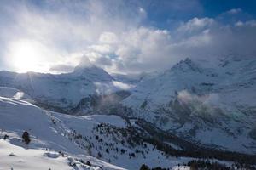
M 26 146 L 25 146 L 26 147 Z M 8 141 L 0 139 L 0 169 L 56 169 L 56 170 L 99 170 L 99 169 L 123 169 L 105 163 L 103 161 L 91 161 L 93 166 L 88 166 L 78 158 L 64 155 L 53 150 L 27 149 L 10 144 Z M 76 165 L 74 166 L 74 163 Z

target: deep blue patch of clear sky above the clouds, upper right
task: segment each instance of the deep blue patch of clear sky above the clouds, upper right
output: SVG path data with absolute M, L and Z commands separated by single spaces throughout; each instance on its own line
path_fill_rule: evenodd
M 145 1 L 143 7 L 148 11 L 148 22 L 154 21 L 155 26 L 165 28 L 168 20 L 189 20 L 194 17 L 218 17 L 232 8 L 241 8 L 251 18 L 255 18 L 256 1 L 247 0 L 201 0 L 201 1 L 176 1 L 180 8 L 173 8 L 173 1 Z M 184 6 L 186 6 L 184 8 Z

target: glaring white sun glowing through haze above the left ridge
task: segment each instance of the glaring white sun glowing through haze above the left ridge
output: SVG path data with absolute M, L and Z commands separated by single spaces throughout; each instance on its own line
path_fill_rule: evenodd
M 15 71 L 44 72 L 43 60 L 44 52 L 38 42 L 25 39 L 12 42 L 9 46 L 9 62 Z

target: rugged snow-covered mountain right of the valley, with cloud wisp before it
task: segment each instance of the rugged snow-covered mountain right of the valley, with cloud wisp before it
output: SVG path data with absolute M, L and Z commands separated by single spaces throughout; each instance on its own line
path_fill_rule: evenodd
M 256 59 L 203 64 L 182 60 L 143 79 L 122 103 L 184 139 L 255 154 Z

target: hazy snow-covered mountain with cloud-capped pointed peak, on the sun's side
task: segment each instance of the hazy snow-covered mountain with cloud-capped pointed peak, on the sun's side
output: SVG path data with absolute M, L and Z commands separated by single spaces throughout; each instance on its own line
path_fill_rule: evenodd
M 92 95 L 112 94 L 130 88 L 129 84 L 115 81 L 108 72 L 95 65 L 78 65 L 73 72 L 59 75 L 0 71 L 0 86 L 18 88 L 39 104 L 60 111 L 69 111 L 77 107 L 81 99 L 90 99 Z

